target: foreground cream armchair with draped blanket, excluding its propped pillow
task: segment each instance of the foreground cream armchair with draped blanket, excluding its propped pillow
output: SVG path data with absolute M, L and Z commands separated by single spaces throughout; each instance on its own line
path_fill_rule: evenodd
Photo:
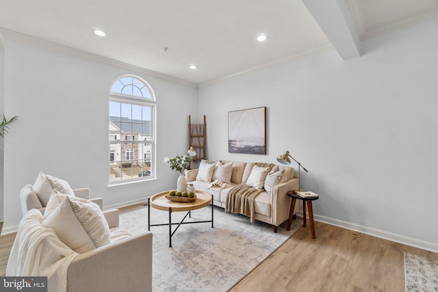
M 51 275 L 49 291 L 151 292 L 152 233 L 127 233 L 119 227 L 117 209 L 103 215 L 111 242 L 77 254 L 62 243 L 53 229 L 42 224 L 40 212 L 29 211 L 21 220 L 6 276 Z

